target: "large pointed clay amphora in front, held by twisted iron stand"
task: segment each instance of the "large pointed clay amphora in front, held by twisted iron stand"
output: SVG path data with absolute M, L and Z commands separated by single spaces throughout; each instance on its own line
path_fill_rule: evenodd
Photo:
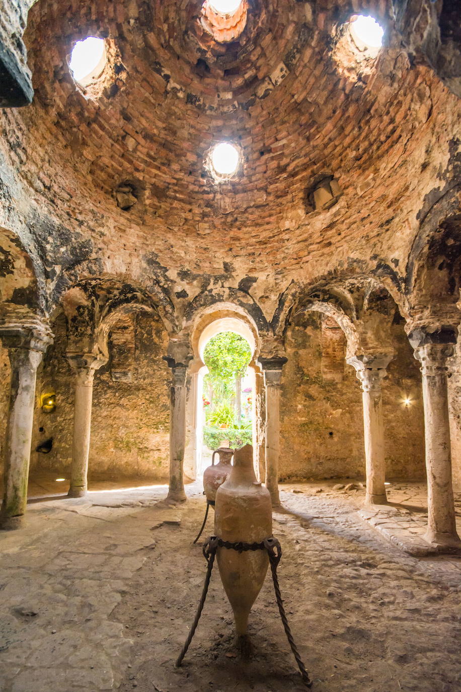
M 234 452 L 227 480 L 216 493 L 214 532 L 232 543 L 261 543 L 272 536 L 270 493 L 256 481 L 253 448 L 246 444 Z M 238 637 L 247 633 L 248 615 L 264 582 L 269 558 L 265 550 L 239 553 L 220 547 L 219 573 L 232 610 Z

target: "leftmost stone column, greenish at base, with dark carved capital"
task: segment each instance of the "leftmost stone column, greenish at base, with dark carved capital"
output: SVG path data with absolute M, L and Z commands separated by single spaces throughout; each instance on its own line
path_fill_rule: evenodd
M 17 529 L 27 504 L 37 367 L 52 337 L 46 325 L 0 327 L 11 364 L 10 401 L 4 448 L 4 491 L 0 528 Z

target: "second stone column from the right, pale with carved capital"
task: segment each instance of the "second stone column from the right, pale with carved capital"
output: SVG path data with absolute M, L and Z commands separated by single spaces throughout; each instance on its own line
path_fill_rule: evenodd
M 365 504 L 387 504 L 386 459 L 384 455 L 384 421 L 382 412 L 382 379 L 393 356 L 354 356 L 348 363 L 355 367 L 361 382 L 364 408 L 364 442 L 366 461 Z

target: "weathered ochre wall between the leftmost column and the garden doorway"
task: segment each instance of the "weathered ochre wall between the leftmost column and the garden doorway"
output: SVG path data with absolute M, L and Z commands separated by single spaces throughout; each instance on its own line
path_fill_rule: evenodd
M 160 320 L 153 316 L 136 316 L 133 324 L 131 382 L 113 381 L 112 357 L 95 374 L 90 478 L 168 477 L 169 370 L 162 361 L 165 334 Z M 55 323 L 55 334 L 55 345 L 46 354 L 37 377 L 37 399 L 41 393 L 55 391 L 57 408 L 49 414 L 37 408 L 32 439 L 35 450 L 40 442 L 53 437 L 53 449 L 48 454 L 32 451 L 31 468 L 65 475 L 72 454 L 74 374 L 64 357 L 64 318 Z M 112 350 L 110 347 L 111 354 Z M 40 427 L 43 432 L 39 432 Z

